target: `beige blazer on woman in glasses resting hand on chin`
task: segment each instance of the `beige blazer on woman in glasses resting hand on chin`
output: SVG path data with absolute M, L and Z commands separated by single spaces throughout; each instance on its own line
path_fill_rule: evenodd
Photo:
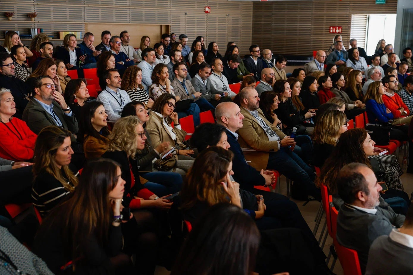
M 172 139 L 171 134 L 168 129 L 166 129 L 162 120 L 163 118 L 154 112 L 149 113 L 149 120 L 146 122 L 145 129 L 150 135 L 153 148 L 156 148 L 164 141 L 169 141 L 171 146 L 176 147 L 175 141 Z M 182 141 L 185 140 L 186 132 L 176 127 L 173 128 L 172 132 L 176 134 L 176 143 L 179 144 L 180 148 L 185 149 L 186 146 L 182 143 Z

